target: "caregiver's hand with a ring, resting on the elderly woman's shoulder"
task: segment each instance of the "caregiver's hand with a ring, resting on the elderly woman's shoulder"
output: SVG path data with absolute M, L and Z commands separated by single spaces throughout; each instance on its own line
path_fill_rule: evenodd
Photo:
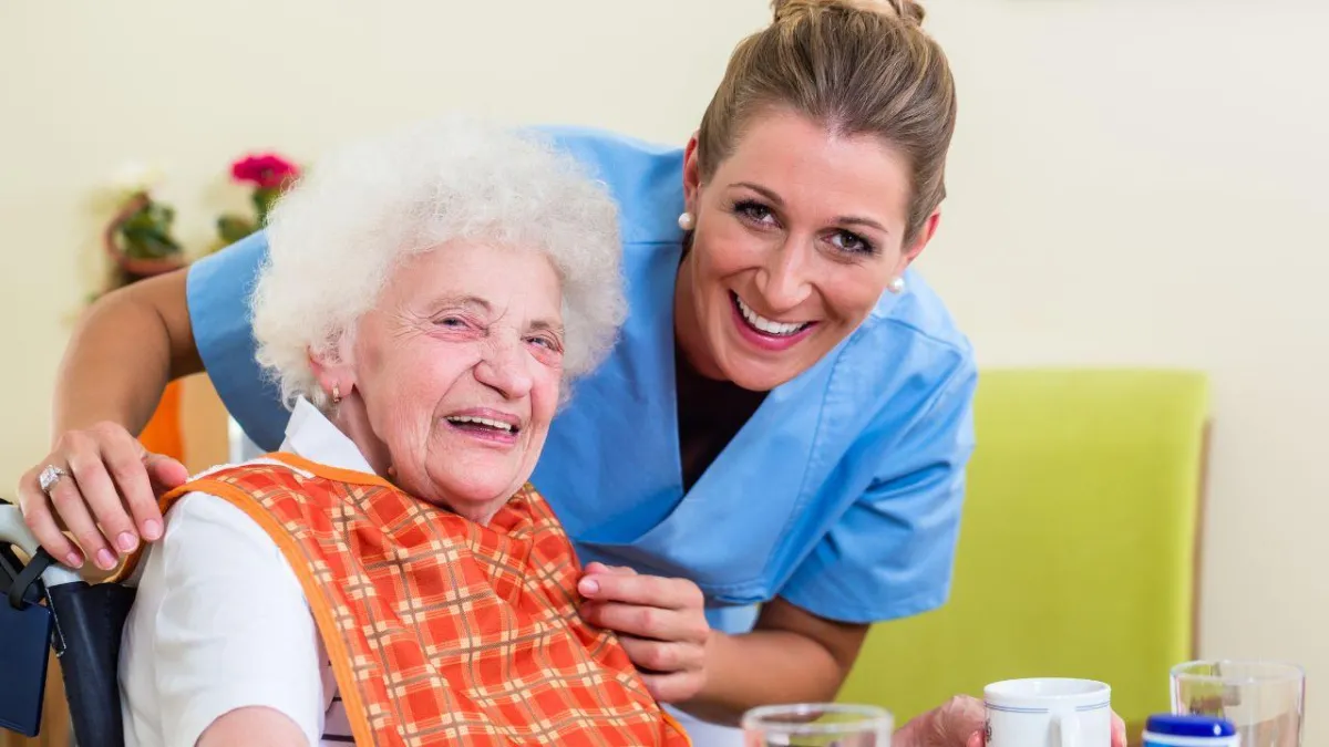
M 39 476 L 51 464 L 69 476 L 48 497 Z M 121 425 L 98 423 L 60 436 L 54 451 L 19 479 L 19 508 L 51 557 L 70 568 L 81 568 L 90 557 L 97 568 L 110 570 L 117 556 L 133 552 L 141 538 L 162 536 L 157 496 L 186 480 L 189 471 L 181 463 L 149 453 Z

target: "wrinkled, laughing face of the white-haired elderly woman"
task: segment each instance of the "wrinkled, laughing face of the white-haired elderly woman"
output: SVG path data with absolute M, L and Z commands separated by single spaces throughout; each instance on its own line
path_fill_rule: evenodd
M 396 267 L 354 355 L 403 489 L 488 522 L 530 477 L 558 404 L 561 304 L 534 250 L 452 243 Z

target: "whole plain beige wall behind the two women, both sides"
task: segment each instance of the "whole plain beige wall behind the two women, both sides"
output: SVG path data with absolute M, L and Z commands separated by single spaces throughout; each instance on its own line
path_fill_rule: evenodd
M 1312 675 L 1329 671 L 1318 8 L 933 3 L 962 121 L 924 261 L 986 364 L 1213 374 L 1204 653 Z M 121 161 L 169 169 L 199 246 L 241 206 L 222 174 L 246 149 L 311 160 L 451 108 L 682 142 L 764 17 L 764 0 L 0 4 L 0 485 L 44 453 L 51 376 L 96 276 L 89 194 Z M 1308 736 L 1329 739 L 1329 719 Z

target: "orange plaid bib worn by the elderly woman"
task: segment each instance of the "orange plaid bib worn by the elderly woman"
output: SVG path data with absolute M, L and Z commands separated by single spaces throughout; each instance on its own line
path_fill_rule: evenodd
M 272 459 L 288 467 L 226 469 L 166 501 L 225 498 L 282 548 L 356 744 L 688 744 L 618 639 L 577 614 L 571 544 L 533 488 L 480 526 L 373 475 Z

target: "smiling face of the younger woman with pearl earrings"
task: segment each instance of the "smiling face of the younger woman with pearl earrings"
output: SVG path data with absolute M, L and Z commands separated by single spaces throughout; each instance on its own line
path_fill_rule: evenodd
M 922 250 L 904 247 L 908 162 L 872 136 L 776 110 L 748 122 L 702 181 L 690 146 L 692 251 L 679 274 L 680 340 L 702 374 L 766 391 L 807 371 Z

